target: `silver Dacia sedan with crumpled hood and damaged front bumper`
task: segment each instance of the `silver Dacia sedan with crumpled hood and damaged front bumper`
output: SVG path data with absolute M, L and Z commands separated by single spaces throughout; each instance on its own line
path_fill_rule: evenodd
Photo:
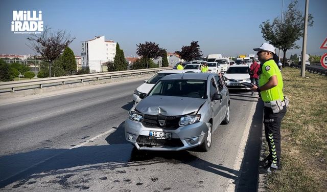
M 206 152 L 229 122 L 229 93 L 217 74 L 167 75 L 140 97 L 125 121 L 125 138 L 138 150 Z

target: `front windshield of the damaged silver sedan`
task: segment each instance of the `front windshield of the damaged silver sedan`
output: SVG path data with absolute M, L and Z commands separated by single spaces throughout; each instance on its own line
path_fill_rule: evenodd
M 206 98 L 206 80 L 161 80 L 149 95 Z

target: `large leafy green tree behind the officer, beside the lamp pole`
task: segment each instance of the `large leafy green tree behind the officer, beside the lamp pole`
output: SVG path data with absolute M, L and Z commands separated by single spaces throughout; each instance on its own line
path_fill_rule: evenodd
M 283 13 L 283 21 L 276 17 L 272 23 L 269 20 L 260 25 L 262 36 L 276 48 L 284 53 L 283 67 L 285 67 L 286 52 L 298 49 L 295 41 L 303 36 L 305 16 L 297 9 L 297 1 L 292 0 L 287 11 Z M 308 26 L 313 26 L 313 16 L 308 15 Z

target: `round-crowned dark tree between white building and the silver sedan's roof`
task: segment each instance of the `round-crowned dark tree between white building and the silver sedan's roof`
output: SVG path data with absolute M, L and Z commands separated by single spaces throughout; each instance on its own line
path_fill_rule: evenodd
M 151 58 L 156 59 L 160 56 L 161 49 L 159 48 L 159 44 L 155 42 L 145 41 L 145 44 L 139 44 L 136 45 L 136 47 L 136 54 L 144 59 L 143 61 L 146 62 L 146 68 L 150 67 L 149 63 L 151 62 Z

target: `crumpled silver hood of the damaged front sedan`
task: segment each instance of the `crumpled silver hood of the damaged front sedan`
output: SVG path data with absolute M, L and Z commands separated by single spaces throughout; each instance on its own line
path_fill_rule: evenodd
M 144 98 L 135 109 L 147 115 L 186 115 L 198 111 L 205 101 L 200 98 L 156 95 Z

